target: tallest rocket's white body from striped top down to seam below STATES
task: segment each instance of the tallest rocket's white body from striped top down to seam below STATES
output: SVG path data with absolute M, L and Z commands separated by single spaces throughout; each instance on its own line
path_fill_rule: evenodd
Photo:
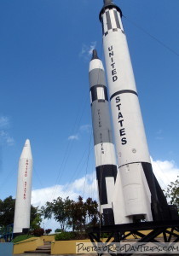
M 107 34 L 103 35 L 103 45 L 113 123 L 115 122 L 114 134 L 118 142 L 116 143 L 118 163 L 119 166 L 138 161 L 150 163 L 130 53 L 121 26 L 122 21 L 116 9 L 106 9 L 102 15 L 103 22 L 107 20 L 108 12 L 108 22 L 110 20 L 113 26 L 111 29 L 107 28 L 107 31 L 104 30 Z M 113 31 L 114 29 L 117 31 Z

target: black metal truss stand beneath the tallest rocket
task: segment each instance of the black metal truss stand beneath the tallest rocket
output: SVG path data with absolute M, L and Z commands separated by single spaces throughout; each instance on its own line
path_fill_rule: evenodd
M 147 231 L 147 235 L 144 235 L 142 231 Z M 93 245 L 98 246 L 98 242 L 101 241 L 101 234 L 107 233 L 107 241 L 103 242 L 104 246 L 110 246 L 111 242 L 120 242 L 128 239 L 129 236 L 133 236 L 137 243 L 139 242 L 172 242 L 172 246 L 179 241 L 179 220 L 166 220 L 158 222 L 141 222 L 133 224 L 115 224 L 108 226 L 101 226 L 101 228 L 95 227 L 86 230 L 90 236 L 90 241 Z M 160 236 L 160 237 L 158 237 Z M 112 241 L 113 238 L 113 241 Z M 161 241 L 162 240 L 162 241 Z M 110 242 L 109 242 L 110 241 Z M 102 253 L 98 253 L 102 255 Z M 122 253 L 111 253 L 110 255 L 126 255 Z M 133 255 L 128 253 L 127 255 Z

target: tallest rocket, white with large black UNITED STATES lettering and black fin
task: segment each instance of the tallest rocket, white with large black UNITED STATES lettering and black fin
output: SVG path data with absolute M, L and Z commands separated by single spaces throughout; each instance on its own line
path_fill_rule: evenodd
M 125 212 L 124 216 L 114 212 L 115 223 L 169 219 L 165 195 L 153 175 L 121 18 L 121 9 L 113 1 L 105 0 L 100 20 Z M 115 189 L 114 207 L 115 202 L 123 201 L 118 183 Z

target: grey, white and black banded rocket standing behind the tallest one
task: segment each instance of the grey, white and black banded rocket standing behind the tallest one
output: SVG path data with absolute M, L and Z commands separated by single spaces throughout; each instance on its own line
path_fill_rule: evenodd
M 113 190 L 117 177 L 104 67 L 94 49 L 90 61 L 90 104 L 94 135 L 95 170 L 101 214 L 105 224 L 114 224 Z

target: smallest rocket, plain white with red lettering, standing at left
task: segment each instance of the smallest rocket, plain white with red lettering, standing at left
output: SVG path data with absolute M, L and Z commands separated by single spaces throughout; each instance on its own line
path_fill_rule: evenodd
M 14 211 L 14 233 L 30 228 L 32 196 L 32 151 L 27 139 L 20 155 Z

